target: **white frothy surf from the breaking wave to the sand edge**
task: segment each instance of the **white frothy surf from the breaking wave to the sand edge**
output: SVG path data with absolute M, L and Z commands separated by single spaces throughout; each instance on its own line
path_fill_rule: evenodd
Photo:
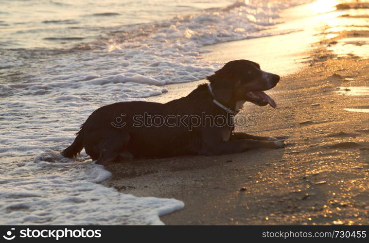
M 2 49 L 0 224 L 162 224 L 158 216 L 183 202 L 106 188 L 103 166 L 84 152 L 70 160 L 57 151 L 96 108 L 205 78 L 223 65 L 202 60 L 205 45 L 281 34 L 270 28 L 278 11 L 302 2 L 238 1 L 112 28 L 109 38 L 70 50 Z

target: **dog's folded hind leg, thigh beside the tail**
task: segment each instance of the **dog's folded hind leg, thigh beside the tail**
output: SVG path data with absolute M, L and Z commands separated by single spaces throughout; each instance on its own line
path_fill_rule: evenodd
M 127 132 L 118 129 L 109 131 L 106 138 L 99 144 L 100 156 L 96 163 L 106 164 L 112 162 L 125 149 L 129 138 Z

